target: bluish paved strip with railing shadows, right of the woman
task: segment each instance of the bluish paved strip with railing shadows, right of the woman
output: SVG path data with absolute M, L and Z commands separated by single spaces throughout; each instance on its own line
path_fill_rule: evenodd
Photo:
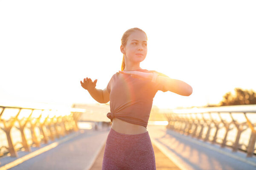
M 256 157 L 184 136 L 165 126 L 149 126 L 151 141 L 182 170 L 256 170 Z

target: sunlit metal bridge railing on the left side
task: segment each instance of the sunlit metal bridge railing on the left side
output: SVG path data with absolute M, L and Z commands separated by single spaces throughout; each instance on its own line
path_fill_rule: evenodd
M 40 147 L 41 142 L 46 144 L 49 140 L 77 131 L 79 117 L 79 112 L 74 110 L 56 113 L 0 106 L 0 156 L 18 157 L 17 150 L 30 152 L 31 147 Z

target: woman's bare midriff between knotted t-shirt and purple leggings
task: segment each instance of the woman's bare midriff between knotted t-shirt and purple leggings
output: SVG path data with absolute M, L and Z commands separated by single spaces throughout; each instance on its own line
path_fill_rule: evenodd
M 147 132 L 147 129 L 144 126 L 128 123 L 117 118 L 113 118 L 111 128 L 113 130 L 116 130 L 116 132 L 118 133 L 124 133 L 129 135 Z

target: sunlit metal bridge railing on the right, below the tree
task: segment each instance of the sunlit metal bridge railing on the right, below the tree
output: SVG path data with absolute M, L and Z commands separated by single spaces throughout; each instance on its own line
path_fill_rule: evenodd
M 168 129 L 256 155 L 256 111 L 166 113 Z

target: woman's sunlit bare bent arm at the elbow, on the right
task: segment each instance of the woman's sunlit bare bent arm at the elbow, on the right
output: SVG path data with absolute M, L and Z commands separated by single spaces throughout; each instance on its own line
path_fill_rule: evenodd
M 180 94 L 182 96 L 190 96 L 193 91 L 192 87 L 186 82 L 178 79 L 171 79 L 169 77 L 163 77 L 160 75 L 157 76 L 156 83 L 160 83 L 166 90 L 172 91 L 173 93 Z

